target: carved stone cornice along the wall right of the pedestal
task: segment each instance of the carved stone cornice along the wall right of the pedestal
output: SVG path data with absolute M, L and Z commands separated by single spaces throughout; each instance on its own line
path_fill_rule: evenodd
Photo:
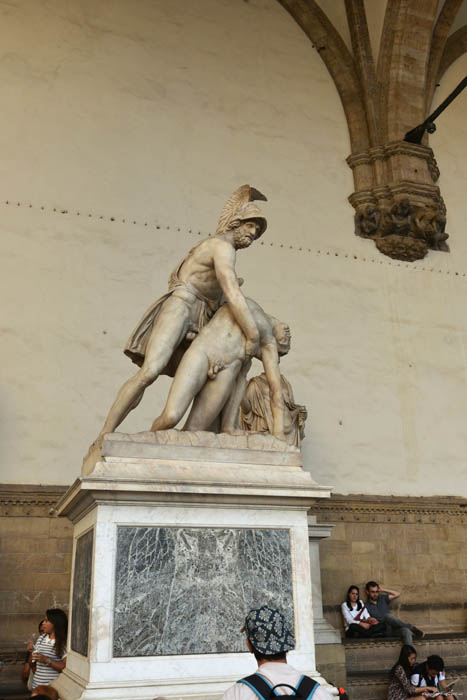
M 393 496 L 332 495 L 316 501 L 310 513 L 319 522 L 467 523 L 467 500 L 454 497 L 398 498 Z

